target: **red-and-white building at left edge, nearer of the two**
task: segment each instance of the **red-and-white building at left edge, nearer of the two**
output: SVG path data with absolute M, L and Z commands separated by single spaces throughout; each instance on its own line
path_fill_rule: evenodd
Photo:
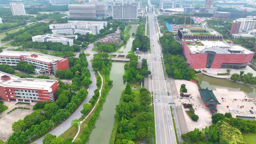
M 5 101 L 54 101 L 58 80 L 19 78 L 0 71 L 0 99 Z

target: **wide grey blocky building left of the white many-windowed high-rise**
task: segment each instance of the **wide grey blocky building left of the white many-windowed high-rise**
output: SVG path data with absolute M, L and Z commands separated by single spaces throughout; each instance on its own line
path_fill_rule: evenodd
M 70 18 L 96 18 L 95 4 L 69 4 Z

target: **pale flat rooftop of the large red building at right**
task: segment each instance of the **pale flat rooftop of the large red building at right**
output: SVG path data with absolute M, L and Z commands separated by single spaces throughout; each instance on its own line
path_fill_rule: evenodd
M 212 41 L 212 40 L 185 40 L 191 51 L 191 53 L 204 53 L 207 50 L 214 51 L 216 53 L 253 53 L 252 51 L 232 43 L 228 43 L 226 41 Z M 192 42 L 192 43 L 191 43 Z

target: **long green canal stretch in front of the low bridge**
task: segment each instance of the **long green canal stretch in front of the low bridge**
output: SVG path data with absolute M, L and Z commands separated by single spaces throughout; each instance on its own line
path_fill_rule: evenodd
M 103 105 L 103 110 L 100 112 L 95 128 L 92 130 L 88 144 L 108 144 L 110 135 L 115 122 L 115 107 L 119 104 L 122 91 L 125 89 L 123 83 L 124 62 L 112 62 L 110 71 L 110 79 L 113 80 L 113 87 L 107 95 Z

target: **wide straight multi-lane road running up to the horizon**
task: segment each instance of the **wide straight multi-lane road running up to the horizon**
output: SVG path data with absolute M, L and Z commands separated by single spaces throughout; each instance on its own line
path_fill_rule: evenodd
M 150 0 L 148 0 L 150 5 Z M 164 77 L 162 67 L 162 50 L 158 43 L 159 33 L 155 21 L 155 15 L 152 13 L 152 8 L 149 7 L 149 34 L 151 54 L 148 55 L 149 70 L 152 72 L 150 85 L 154 97 L 154 112 L 155 112 L 155 131 L 156 144 L 177 144 L 174 133 L 173 120 L 169 102 L 170 96 L 167 94 L 167 81 Z

